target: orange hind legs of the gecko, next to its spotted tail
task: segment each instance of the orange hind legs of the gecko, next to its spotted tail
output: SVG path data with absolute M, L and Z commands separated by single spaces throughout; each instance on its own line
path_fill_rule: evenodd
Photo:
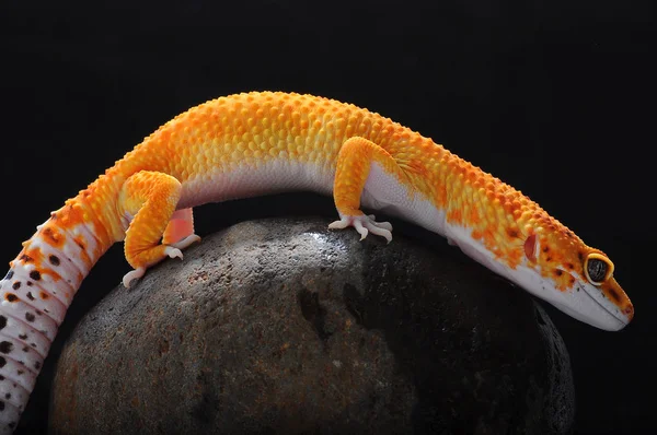
M 174 215 L 181 190 L 175 177 L 151 171 L 134 174 L 124 183 L 118 212 L 134 216 L 124 244 L 126 260 L 134 268 L 123 278 L 126 287 L 164 258 L 182 259 L 181 249 L 199 239 L 194 234 L 191 209 Z

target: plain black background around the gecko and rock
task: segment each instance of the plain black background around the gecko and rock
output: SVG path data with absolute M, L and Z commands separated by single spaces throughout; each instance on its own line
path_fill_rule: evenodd
M 570 352 L 576 433 L 657 428 L 652 2 L 103 4 L 0 5 L 1 258 L 193 105 L 251 90 L 334 97 L 443 143 L 612 258 L 635 304 L 632 325 L 604 332 L 550 310 Z M 333 215 L 330 199 L 291 198 L 205 207 L 198 233 L 263 215 Z M 45 427 L 62 339 L 127 270 L 116 245 L 82 285 L 21 432 Z

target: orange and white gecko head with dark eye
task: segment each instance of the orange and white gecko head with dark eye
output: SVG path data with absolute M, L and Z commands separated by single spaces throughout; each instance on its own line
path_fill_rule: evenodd
M 623 329 L 632 321 L 634 307 L 613 277 L 613 262 L 557 225 L 526 239 L 529 270 L 519 273 L 525 285 L 518 284 L 586 324 L 608 331 Z

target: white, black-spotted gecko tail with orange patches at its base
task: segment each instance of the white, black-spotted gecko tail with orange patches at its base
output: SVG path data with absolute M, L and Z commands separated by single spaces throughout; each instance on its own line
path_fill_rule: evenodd
M 88 224 L 61 217 L 37 226 L 0 280 L 0 435 L 16 427 L 76 292 L 106 250 Z

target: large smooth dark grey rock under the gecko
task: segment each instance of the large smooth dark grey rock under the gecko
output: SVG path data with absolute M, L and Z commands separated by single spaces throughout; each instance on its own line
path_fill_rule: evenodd
M 115 289 L 54 379 L 55 434 L 564 434 L 548 315 L 447 243 L 244 222 Z

